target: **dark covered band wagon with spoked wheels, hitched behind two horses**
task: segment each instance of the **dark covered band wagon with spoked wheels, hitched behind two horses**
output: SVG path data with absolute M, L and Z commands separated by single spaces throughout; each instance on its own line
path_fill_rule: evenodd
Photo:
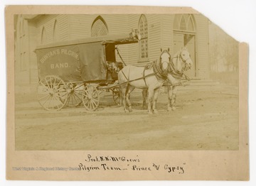
M 95 111 L 100 93 L 107 91 L 119 104 L 117 72 L 123 63 L 116 61 L 117 45 L 137 42 L 132 32 L 38 46 L 38 102 L 46 110 L 83 104 Z

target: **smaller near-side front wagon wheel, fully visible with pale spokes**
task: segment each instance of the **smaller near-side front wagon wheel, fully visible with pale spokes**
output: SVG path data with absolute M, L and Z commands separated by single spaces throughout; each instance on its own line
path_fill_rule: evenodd
M 97 106 L 100 103 L 100 95 L 95 86 L 92 84 L 87 84 L 82 93 L 82 102 L 85 106 L 85 109 L 88 111 L 95 111 Z

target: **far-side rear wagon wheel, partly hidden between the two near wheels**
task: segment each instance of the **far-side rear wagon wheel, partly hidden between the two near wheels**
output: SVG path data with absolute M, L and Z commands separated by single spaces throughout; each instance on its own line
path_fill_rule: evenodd
M 84 84 L 68 84 L 68 106 L 79 106 L 82 103 Z

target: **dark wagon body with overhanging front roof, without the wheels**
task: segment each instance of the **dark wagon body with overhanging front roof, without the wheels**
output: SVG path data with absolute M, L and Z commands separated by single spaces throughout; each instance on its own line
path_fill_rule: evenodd
M 115 45 L 137 43 L 129 35 L 111 35 L 41 45 L 36 48 L 38 77 L 57 75 L 65 82 L 107 80 L 106 62 L 116 62 Z

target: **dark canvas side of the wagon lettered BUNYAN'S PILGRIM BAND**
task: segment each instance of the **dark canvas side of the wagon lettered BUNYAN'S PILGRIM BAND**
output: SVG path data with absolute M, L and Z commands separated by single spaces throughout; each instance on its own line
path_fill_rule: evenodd
M 65 82 L 105 80 L 105 45 L 102 42 L 60 45 L 36 50 L 39 79 L 58 75 Z

